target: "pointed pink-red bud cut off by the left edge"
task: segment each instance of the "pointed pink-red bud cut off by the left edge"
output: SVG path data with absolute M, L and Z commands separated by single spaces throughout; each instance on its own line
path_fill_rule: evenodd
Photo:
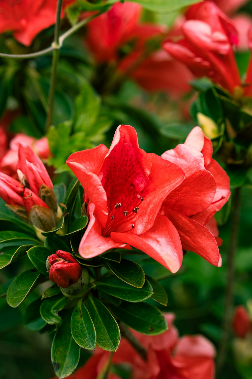
M 20 182 L 0 172 L 0 197 L 7 204 L 24 207 L 23 190 L 24 186 Z

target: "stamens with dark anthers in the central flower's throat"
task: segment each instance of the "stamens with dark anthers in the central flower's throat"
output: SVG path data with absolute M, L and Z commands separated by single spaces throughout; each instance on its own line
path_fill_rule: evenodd
M 130 224 L 129 229 L 120 230 L 120 232 L 125 233 L 135 228 L 136 215 L 139 210 L 139 205 L 142 203 L 144 198 L 141 195 L 137 195 L 138 204 L 130 210 L 125 210 L 123 204 L 118 202 L 114 205 L 110 213 L 108 214 L 108 221 L 105 228 L 102 228 L 102 236 L 109 237 L 111 232 L 119 232 L 121 226 L 125 224 Z

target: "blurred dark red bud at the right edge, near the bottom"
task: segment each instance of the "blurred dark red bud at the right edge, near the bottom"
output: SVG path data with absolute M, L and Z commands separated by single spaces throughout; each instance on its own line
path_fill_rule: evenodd
M 245 338 L 247 334 L 251 333 L 251 320 L 246 308 L 243 307 L 243 305 L 238 305 L 235 307 L 232 326 L 237 337 Z

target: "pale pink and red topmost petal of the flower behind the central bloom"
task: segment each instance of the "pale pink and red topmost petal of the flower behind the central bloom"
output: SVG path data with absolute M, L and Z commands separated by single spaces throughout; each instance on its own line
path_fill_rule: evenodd
M 184 143 L 186 146 L 195 147 L 201 153 L 203 153 L 205 167 L 207 168 L 212 161 L 213 146 L 209 138 L 207 138 L 203 130 L 199 126 L 195 126 L 189 133 Z

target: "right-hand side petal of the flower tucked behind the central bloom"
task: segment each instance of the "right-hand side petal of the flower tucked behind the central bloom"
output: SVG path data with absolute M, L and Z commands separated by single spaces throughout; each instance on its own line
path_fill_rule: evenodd
M 193 219 L 202 225 L 205 225 L 226 204 L 230 196 L 230 179 L 220 164 L 213 159 L 207 169 L 215 179 L 216 193 L 212 204 L 205 211 L 193 216 Z

